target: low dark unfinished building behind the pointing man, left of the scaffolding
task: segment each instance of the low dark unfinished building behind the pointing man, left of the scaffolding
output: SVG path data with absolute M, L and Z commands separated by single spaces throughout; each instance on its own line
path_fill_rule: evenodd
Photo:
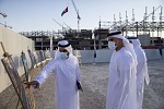
M 58 31 L 57 32 L 23 32 L 20 33 L 35 41 L 35 50 L 46 50 L 50 48 L 52 41 L 54 50 L 57 49 L 57 44 L 61 39 L 67 39 L 72 45 L 73 49 L 89 50 L 94 48 L 94 39 L 92 38 L 92 29 Z

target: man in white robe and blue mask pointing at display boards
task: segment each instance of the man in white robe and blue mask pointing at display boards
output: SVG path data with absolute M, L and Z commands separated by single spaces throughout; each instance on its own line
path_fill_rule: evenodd
M 80 68 L 77 57 L 72 55 L 72 47 L 67 40 L 58 43 L 55 59 L 43 68 L 33 82 L 26 85 L 38 88 L 51 73 L 55 74 L 56 84 L 55 109 L 80 109 L 79 89 L 82 89 Z

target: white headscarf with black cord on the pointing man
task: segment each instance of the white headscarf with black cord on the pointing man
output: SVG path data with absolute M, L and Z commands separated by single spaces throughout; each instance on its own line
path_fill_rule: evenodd
M 57 51 L 56 51 L 55 59 L 57 59 L 57 58 L 60 57 L 60 55 L 59 55 L 59 53 L 60 53 L 59 47 L 62 47 L 62 48 L 67 49 L 68 52 L 69 52 L 69 56 L 72 56 L 72 55 L 73 55 L 73 53 L 72 53 L 72 46 L 69 44 L 69 41 L 68 41 L 68 40 L 60 40 L 60 41 L 58 43 L 58 49 L 57 49 Z

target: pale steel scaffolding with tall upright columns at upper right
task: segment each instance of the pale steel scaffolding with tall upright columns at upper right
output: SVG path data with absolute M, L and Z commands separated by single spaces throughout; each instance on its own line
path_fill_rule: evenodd
M 159 16 L 155 16 L 156 12 L 159 12 Z M 150 14 L 148 14 L 148 8 L 145 7 L 145 12 L 142 21 L 136 21 L 134 9 L 132 9 L 131 21 L 128 20 L 126 11 L 125 21 L 122 21 L 121 13 L 119 13 L 119 21 L 116 21 L 116 14 L 114 14 L 114 21 L 101 21 L 99 28 L 107 28 L 109 31 L 118 29 L 121 31 L 125 36 L 138 36 L 139 34 L 150 34 L 151 37 L 164 37 L 162 36 L 162 32 L 164 31 L 163 17 L 164 16 L 162 5 L 157 7 L 156 9 L 153 7 L 153 11 Z

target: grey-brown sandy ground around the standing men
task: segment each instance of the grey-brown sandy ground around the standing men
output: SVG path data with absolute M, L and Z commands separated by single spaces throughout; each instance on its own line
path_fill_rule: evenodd
M 164 109 L 164 60 L 149 61 L 150 86 L 145 85 L 143 109 Z M 82 86 L 80 93 L 81 109 L 105 109 L 108 63 L 82 64 Z M 54 76 L 51 75 L 40 89 L 34 90 L 37 109 L 54 108 Z M 8 104 L 10 98 L 13 99 Z M 16 95 L 10 86 L 0 94 L 0 109 L 14 109 Z

